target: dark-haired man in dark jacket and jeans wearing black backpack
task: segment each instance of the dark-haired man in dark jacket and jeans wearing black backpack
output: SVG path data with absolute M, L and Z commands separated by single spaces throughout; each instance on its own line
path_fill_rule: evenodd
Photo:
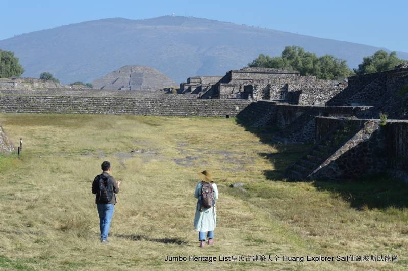
M 111 163 L 102 163 L 102 174 L 95 177 L 92 183 L 92 193 L 96 194 L 95 203 L 98 206 L 100 241 L 108 242 L 108 232 L 116 204 L 115 194 L 119 193 L 120 181 L 110 175 Z

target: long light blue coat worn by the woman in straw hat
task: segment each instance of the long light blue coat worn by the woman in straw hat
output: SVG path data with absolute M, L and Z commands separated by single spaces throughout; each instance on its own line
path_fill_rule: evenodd
M 194 198 L 198 199 L 201 195 L 201 187 L 203 182 L 197 183 L 194 192 Z M 214 190 L 214 200 L 218 200 L 218 188 L 215 183 L 213 185 Z M 203 209 L 200 211 L 200 203 L 197 201 L 197 206 L 195 208 L 194 215 L 194 228 L 196 231 L 213 231 L 217 224 L 217 206 L 214 204 L 214 207 Z

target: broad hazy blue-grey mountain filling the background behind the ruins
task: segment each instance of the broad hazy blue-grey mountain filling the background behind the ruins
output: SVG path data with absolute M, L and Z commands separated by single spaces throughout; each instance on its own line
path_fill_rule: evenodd
M 146 65 L 177 82 L 194 75 L 224 75 L 260 53 L 280 55 L 287 45 L 329 53 L 356 67 L 384 48 L 322 39 L 215 20 L 163 16 L 87 21 L 21 34 L 0 41 L 20 58 L 23 76 L 51 72 L 63 83 L 91 82 L 124 65 Z M 408 53 L 398 56 L 408 59 Z

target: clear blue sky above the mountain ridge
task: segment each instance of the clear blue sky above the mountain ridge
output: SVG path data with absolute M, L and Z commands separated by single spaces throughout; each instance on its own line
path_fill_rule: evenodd
M 408 52 L 407 0 L 0 0 L 0 40 L 112 17 L 194 16 Z

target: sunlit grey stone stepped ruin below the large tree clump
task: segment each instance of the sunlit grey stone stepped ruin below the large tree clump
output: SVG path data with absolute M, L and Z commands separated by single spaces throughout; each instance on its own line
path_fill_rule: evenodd
M 228 71 L 225 76 L 196 76 L 180 84 L 180 93 L 203 99 L 275 100 L 290 104 L 324 104 L 347 82 L 300 76 L 282 69 L 252 68 Z

